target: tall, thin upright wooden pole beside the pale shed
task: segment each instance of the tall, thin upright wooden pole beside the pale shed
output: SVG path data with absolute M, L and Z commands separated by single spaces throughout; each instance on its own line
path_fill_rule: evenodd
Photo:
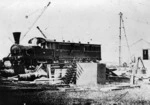
M 120 27 L 119 27 L 119 67 L 121 66 L 121 28 L 122 28 L 122 24 L 121 24 L 121 21 L 122 21 L 122 12 L 119 13 L 120 15 Z

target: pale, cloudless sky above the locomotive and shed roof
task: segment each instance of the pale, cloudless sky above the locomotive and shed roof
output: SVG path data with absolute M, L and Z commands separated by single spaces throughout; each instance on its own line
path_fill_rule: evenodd
M 125 35 L 129 45 L 141 38 L 150 42 L 149 0 L 0 0 L 0 2 L 0 58 L 9 54 L 10 46 L 14 43 L 13 32 L 21 32 L 20 44 L 27 45 L 30 38 L 43 37 L 36 28 L 39 26 L 48 39 L 101 44 L 103 61 L 118 62 L 120 12 L 123 13 L 125 27 L 125 33 L 123 29 L 121 33 L 122 60 L 129 60 Z M 42 14 L 48 2 L 51 4 Z

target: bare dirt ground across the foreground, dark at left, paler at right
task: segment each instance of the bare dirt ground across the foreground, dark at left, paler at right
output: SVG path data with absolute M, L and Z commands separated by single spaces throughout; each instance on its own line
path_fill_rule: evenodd
M 126 84 L 71 87 L 43 91 L 0 91 L 0 105 L 149 105 L 150 84 L 108 90 Z M 105 90 L 107 89 L 107 90 Z

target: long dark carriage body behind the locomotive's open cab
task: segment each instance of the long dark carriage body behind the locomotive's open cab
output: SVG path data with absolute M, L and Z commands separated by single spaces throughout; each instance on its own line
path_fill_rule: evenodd
M 101 60 L 100 45 L 46 41 L 48 49 L 54 51 L 54 60 L 96 61 Z

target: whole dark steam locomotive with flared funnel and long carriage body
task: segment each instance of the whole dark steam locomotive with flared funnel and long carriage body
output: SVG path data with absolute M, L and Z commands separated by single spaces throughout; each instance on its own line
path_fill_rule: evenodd
M 15 44 L 3 62 L 10 61 L 13 69 L 35 69 L 40 63 L 89 62 L 101 60 L 101 45 L 73 42 L 58 42 L 41 37 L 28 41 L 29 46 L 19 44 L 20 32 L 14 32 Z M 21 71 L 20 71 L 21 72 Z

